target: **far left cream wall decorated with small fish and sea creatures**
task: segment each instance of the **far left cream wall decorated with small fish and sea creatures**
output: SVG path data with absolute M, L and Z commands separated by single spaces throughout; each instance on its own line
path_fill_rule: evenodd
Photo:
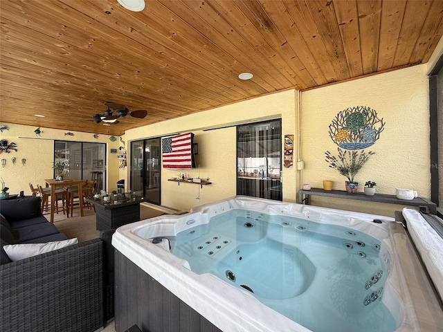
M 0 177 L 6 182 L 6 187 L 10 188 L 10 194 L 18 194 L 24 190 L 24 193 L 29 195 L 29 183 L 44 187 L 44 179 L 53 178 L 54 140 L 107 143 L 107 181 L 111 185 L 108 187 L 116 187 L 119 176 L 118 159 L 115 154 L 110 154 L 110 149 L 118 149 L 119 141 L 111 142 L 109 135 L 100 135 L 96 139 L 93 138 L 92 133 L 72 131 L 74 136 L 67 136 L 64 135 L 67 131 L 41 127 L 43 133 L 36 136 L 34 130 L 37 126 L 30 127 L 4 122 L 1 122 L 1 125 L 8 126 L 9 130 L 0 133 L 0 139 L 17 144 L 17 152 L 0 154 L 0 159 L 6 159 L 6 166 L 0 167 Z M 12 165 L 12 157 L 17 160 L 15 165 Z M 26 159 L 25 165 L 21 164 L 22 158 Z

